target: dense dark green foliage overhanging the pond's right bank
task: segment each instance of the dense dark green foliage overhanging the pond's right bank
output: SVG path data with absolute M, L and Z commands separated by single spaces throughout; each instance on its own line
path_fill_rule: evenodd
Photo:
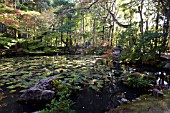
M 167 48 L 167 38 L 162 33 L 148 31 L 139 34 L 136 28 L 128 28 L 118 37 L 123 48 L 120 59 L 126 62 L 157 59 L 157 52 L 164 52 Z

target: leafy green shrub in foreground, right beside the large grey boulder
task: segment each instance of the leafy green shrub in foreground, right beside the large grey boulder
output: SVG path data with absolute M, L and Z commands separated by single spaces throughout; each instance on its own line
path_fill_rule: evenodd
M 43 109 L 40 113 L 75 113 L 74 110 L 70 109 L 74 104 L 69 98 L 71 94 L 70 86 L 58 80 L 53 80 L 53 83 L 56 85 L 56 96 L 59 98 L 53 99 L 51 104 L 47 105 L 49 108 Z

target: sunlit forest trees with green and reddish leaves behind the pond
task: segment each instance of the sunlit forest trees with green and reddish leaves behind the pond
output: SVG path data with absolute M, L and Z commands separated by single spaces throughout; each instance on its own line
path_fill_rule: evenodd
M 105 41 L 124 59 L 149 58 L 169 51 L 169 9 L 169 0 L 1 0 L 0 48 L 73 53 Z

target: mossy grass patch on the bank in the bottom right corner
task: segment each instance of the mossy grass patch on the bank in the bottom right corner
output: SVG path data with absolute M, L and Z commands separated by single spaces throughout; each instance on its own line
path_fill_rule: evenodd
M 170 90 L 164 91 L 164 97 L 141 96 L 140 101 L 123 104 L 108 113 L 164 113 L 170 109 Z

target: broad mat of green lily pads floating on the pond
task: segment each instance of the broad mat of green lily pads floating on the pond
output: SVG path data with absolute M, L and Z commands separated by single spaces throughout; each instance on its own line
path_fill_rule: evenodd
M 7 87 L 10 93 L 22 93 L 43 78 L 57 76 L 76 89 L 88 86 L 99 91 L 109 82 L 107 71 L 107 66 L 95 65 L 94 56 L 1 58 L 0 88 Z

